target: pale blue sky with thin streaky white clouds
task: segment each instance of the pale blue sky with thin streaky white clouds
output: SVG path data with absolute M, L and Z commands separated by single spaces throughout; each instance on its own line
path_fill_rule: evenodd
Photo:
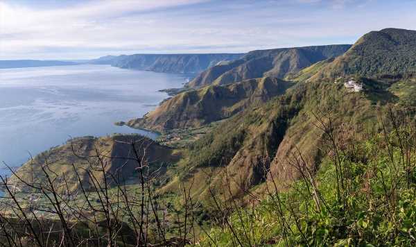
M 245 53 L 416 29 L 416 0 L 0 0 L 0 60 Z

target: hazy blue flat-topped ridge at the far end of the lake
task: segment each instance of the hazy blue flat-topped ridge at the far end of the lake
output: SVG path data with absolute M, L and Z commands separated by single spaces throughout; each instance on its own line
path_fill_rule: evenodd
M 89 62 L 98 65 L 112 65 L 123 69 L 194 74 L 216 65 L 218 62 L 236 60 L 243 55 L 243 53 L 135 54 L 129 56 L 105 56 Z

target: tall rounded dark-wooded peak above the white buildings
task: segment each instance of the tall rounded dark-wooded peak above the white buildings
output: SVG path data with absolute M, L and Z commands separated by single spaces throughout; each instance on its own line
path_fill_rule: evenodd
M 416 72 L 416 31 L 386 28 L 363 35 L 343 56 L 319 69 L 301 71 L 303 78 L 320 80 L 359 75 L 375 78 Z

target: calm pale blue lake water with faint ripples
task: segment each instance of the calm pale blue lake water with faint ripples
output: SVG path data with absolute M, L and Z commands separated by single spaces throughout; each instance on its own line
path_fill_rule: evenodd
M 141 117 L 185 76 L 109 65 L 0 69 L 0 162 L 19 167 L 70 137 L 155 133 L 115 126 Z M 0 174 L 8 174 L 0 164 Z

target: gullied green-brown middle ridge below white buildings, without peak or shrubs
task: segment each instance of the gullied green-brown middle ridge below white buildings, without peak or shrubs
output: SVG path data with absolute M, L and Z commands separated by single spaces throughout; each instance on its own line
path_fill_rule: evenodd
M 377 121 L 377 112 L 383 112 L 388 103 L 403 107 L 390 90 L 398 83 L 414 84 L 412 80 L 390 81 L 390 86 L 381 89 L 374 87 L 377 82 L 373 80 L 360 80 L 365 84 L 363 92 L 349 92 L 342 83 L 298 83 L 266 105 L 236 114 L 191 146 L 186 172 L 227 167 L 235 189 L 260 185 L 265 166 L 281 182 L 296 180 L 299 174 L 286 157 L 300 151 L 313 167 L 325 156 L 319 148 L 324 137 L 313 114 L 331 117 L 334 128 L 347 124 L 361 132 Z

